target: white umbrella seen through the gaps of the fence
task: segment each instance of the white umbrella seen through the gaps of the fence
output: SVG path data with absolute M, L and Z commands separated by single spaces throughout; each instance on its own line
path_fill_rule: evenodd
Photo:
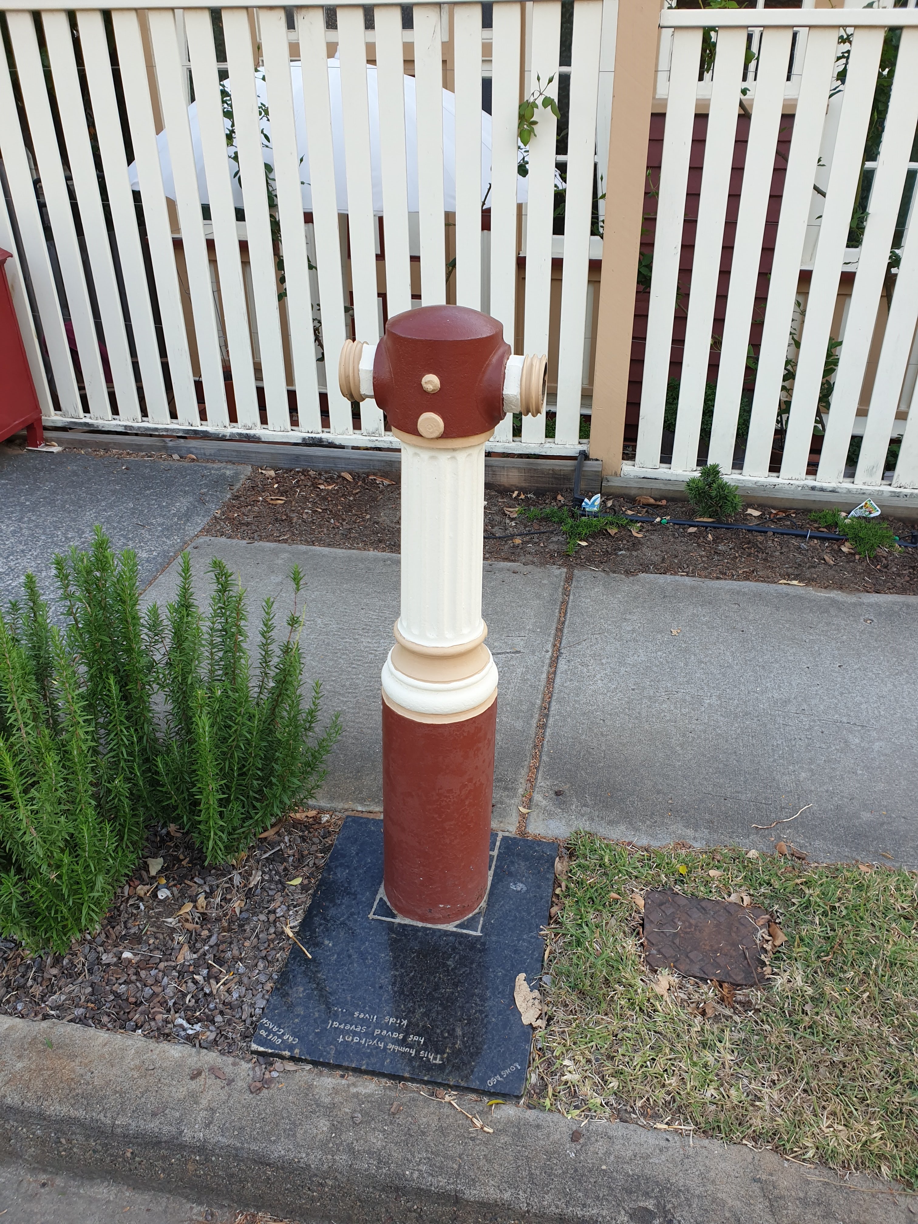
M 304 212 L 312 211 L 312 187 L 310 177 L 308 146 L 306 141 L 306 120 L 302 105 L 302 70 L 299 60 L 290 62 L 290 80 L 294 93 L 294 111 L 296 122 L 296 149 L 301 160 L 300 177 L 302 181 L 302 208 Z M 255 73 L 256 92 L 258 102 L 268 105 L 268 87 L 264 73 Z M 417 103 L 415 97 L 415 78 L 404 77 L 405 82 L 405 143 L 408 162 L 408 209 L 419 212 L 417 203 Z M 367 102 L 370 106 L 370 159 L 373 179 L 373 213 L 382 215 L 382 169 L 379 158 L 379 102 L 377 91 L 376 67 L 367 66 Z M 229 81 L 223 82 L 223 87 L 231 93 Z M 344 169 L 344 115 L 341 110 L 341 73 L 340 64 L 337 59 L 328 61 L 328 93 L 332 104 L 332 141 L 334 146 L 334 181 L 338 196 L 338 211 L 348 212 L 348 179 Z M 209 203 L 207 193 L 207 177 L 204 175 L 204 158 L 201 151 L 201 129 L 197 119 L 197 103 L 188 106 L 188 124 L 191 126 L 191 143 L 195 151 L 195 166 L 197 169 L 198 193 L 201 203 Z M 231 124 L 225 121 L 226 131 L 231 131 Z M 262 120 L 262 155 L 269 165 L 274 163 L 274 151 L 271 147 L 271 120 Z M 163 171 L 163 184 L 165 193 L 175 200 L 175 182 L 173 180 L 173 166 L 169 158 L 169 141 L 163 131 L 157 137 L 159 148 L 159 164 Z M 231 171 L 233 201 L 236 208 L 242 208 L 242 191 L 239 179 L 235 177 L 236 163 L 230 160 L 235 153 L 235 146 L 226 147 L 228 164 Z M 520 159 L 524 157 L 520 146 Z M 131 186 L 137 190 L 140 180 L 137 176 L 137 163 L 129 168 Z M 491 115 L 481 113 L 481 195 L 482 200 L 488 193 L 491 182 Z M 528 181 L 523 176 L 517 177 L 517 200 L 524 203 L 528 198 Z M 455 95 L 448 89 L 443 91 L 443 202 L 446 212 L 455 212 Z

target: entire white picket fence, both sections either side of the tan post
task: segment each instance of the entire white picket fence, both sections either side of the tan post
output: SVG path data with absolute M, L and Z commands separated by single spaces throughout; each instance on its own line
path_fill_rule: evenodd
M 565 51 L 562 22 L 572 9 Z M 395 315 L 454 300 L 499 318 L 515 349 L 558 354 L 554 437 L 546 438 L 542 416 L 525 417 L 514 438 L 508 419 L 491 448 L 580 449 L 590 356 L 608 343 L 592 324 L 599 283 L 589 268 L 602 257 L 596 214 L 614 208 L 614 151 L 608 169 L 606 158 L 619 0 L 573 0 L 572 7 L 497 0 L 488 28 L 474 0 L 421 4 L 410 32 L 389 0 L 375 6 L 372 23 L 345 0 L 334 31 L 323 7 L 239 0 L 222 7 L 218 37 L 213 10 L 201 5 L 100 10 L 56 0 L 32 13 L 0 0 L 0 10 L 15 65 L 0 65 L 0 155 L 11 204 L 0 197 L 0 246 L 23 257 L 22 269 L 10 261 L 7 272 L 47 421 L 393 446 L 372 401 L 355 417 L 340 395 L 337 354 L 349 334 L 378 338 L 383 304 Z M 622 20 L 630 20 L 624 0 Z M 889 28 L 902 29 L 895 83 L 879 154 L 864 166 Z M 707 458 L 747 477 L 918 488 L 913 0 L 895 9 L 666 9 L 659 35 L 654 109 L 666 110 L 666 127 L 640 421 L 623 474 L 687 476 Z M 332 70 L 329 44 L 338 53 Z M 491 116 L 482 115 L 488 76 Z M 524 179 L 518 106 L 551 76 L 554 97 L 562 78 L 569 87 L 567 148 L 556 146 L 556 120 L 540 108 Z M 228 159 L 228 103 L 240 179 Z M 634 105 L 635 122 L 644 105 L 647 118 L 646 103 L 623 91 L 616 105 Z M 750 118 L 733 233 L 728 200 L 743 111 Z M 700 114 L 706 135 L 689 283 L 681 262 Z M 767 209 L 776 147 L 789 116 L 780 218 L 766 244 L 766 226 L 775 230 Z M 559 171 L 563 236 L 553 233 Z M 862 179 L 871 190 L 863 237 L 852 248 Z M 597 200 L 606 188 L 607 204 Z M 730 274 L 725 246 L 732 246 Z M 766 246 L 774 256 L 761 294 Z M 901 261 L 892 273 L 890 251 Z M 37 328 L 21 272 L 31 280 Z M 715 338 L 725 293 L 723 334 Z M 679 312 L 685 338 L 674 346 Z M 760 341 L 756 316 L 764 316 Z M 826 410 L 830 338 L 841 348 Z M 721 351 L 705 447 L 715 339 Z M 679 365 L 670 433 L 666 395 Z M 820 398 L 825 433 L 816 431 L 814 442 Z M 738 438 L 749 399 L 748 432 Z M 608 397 L 601 411 L 624 421 L 624 404 Z M 853 470 L 847 458 L 857 436 Z M 901 438 L 895 471 L 885 470 L 891 438 Z M 618 455 L 602 458 L 617 470 Z

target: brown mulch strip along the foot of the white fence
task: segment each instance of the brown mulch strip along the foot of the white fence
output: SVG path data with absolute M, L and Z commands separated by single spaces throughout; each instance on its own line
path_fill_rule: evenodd
M 202 535 L 275 543 L 318 545 L 371 552 L 399 551 L 400 496 L 397 481 L 381 476 L 322 471 L 253 469 L 204 526 Z M 807 510 L 759 509 L 759 515 L 739 515 L 756 525 L 813 528 L 809 540 L 794 536 L 725 531 L 663 524 L 635 524 L 614 535 L 592 536 L 568 558 L 567 540 L 551 524 L 519 518 L 521 506 L 557 506 L 556 494 L 513 497 L 512 492 L 485 492 L 485 558 L 525 561 L 526 564 L 567 564 L 612 574 L 679 574 L 689 578 L 726 578 L 755 583 L 794 583 L 838 591 L 878 591 L 887 595 L 918 594 L 918 550 L 880 552 L 865 561 L 842 551 L 842 542 L 827 541 L 809 521 Z M 608 498 L 610 514 L 654 513 L 693 518 L 687 502 L 652 508 Z M 912 529 L 886 519 L 892 531 L 911 540 Z M 498 537 L 498 539 L 492 539 Z

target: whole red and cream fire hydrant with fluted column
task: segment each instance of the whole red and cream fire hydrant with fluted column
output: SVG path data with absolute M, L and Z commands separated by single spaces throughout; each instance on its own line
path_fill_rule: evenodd
M 373 398 L 401 443 L 401 611 L 382 671 L 383 889 L 403 918 L 443 925 L 488 885 L 497 667 L 485 645 L 485 443 L 537 416 L 545 356 L 510 356 L 502 324 L 464 306 L 345 341 L 351 401 Z

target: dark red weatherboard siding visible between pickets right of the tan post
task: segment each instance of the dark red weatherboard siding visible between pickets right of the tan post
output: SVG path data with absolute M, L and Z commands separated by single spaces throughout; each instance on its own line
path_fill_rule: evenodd
M 654 233 L 656 218 L 656 196 L 652 191 L 660 185 L 660 165 L 663 157 L 663 130 L 666 115 L 655 114 L 650 118 L 650 141 L 647 144 L 647 170 L 650 171 L 647 190 L 644 196 L 644 228 L 646 233 L 641 237 L 641 251 L 652 252 Z M 791 147 L 791 133 L 793 131 L 793 115 L 785 115 L 781 120 L 781 135 L 778 149 L 785 157 Z M 698 222 L 698 202 L 701 191 L 701 168 L 704 165 L 705 136 L 707 132 L 707 115 L 696 115 L 694 133 L 692 137 L 692 158 L 689 162 L 688 191 L 685 198 L 685 222 L 682 231 L 682 257 L 679 259 L 679 288 L 682 300 L 676 310 L 672 350 L 670 354 L 670 375 L 679 377 L 682 371 L 682 351 L 685 339 L 685 318 L 692 295 L 692 263 L 695 247 L 695 226 Z M 730 272 L 733 266 L 733 239 L 737 229 L 737 215 L 739 213 L 739 192 L 743 186 L 743 168 L 745 165 L 747 141 L 749 138 L 749 119 L 741 114 L 737 119 L 737 136 L 733 147 L 733 173 L 730 180 L 730 196 L 727 198 L 727 222 L 723 229 L 723 248 L 721 252 L 721 275 L 717 286 L 717 302 L 714 311 L 715 335 L 723 334 L 723 321 L 727 312 L 727 289 L 730 288 Z M 761 262 L 759 264 L 759 279 L 756 289 L 756 306 L 753 315 L 753 328 L 750 343 L 758 354 L 761 340 L 761 318 L 765 297 L 767 295 L 769 273 L 775 250 L 775 237 L 777 236 L 777 222 L 781 212 L 781 193 L 785 187 L 785 170 L 787 163 L 781 157 L 775 157 L 775 169 L 771 176 L 771 193 L 769 200 L 767 220 L 765 224 L 765 236 L 763 240 Z M 652 188 L 651 188 L 652 182 Z M 748 271 L 748 269 L 747 269 Z M 625 421 L 629 425 L 638 424 L 640 411 L 640 387 L 644 378 L 644 343 L 647 335 L 647 305 L 650 295 L 638 293 L 634 305 L 634 329 L 632 333 L 632 370 L 628 381 L 628 410 Z M 711 360 L 707 366 L 707 378 L 715 382 L 717 378 L 717 366 L 720 353 L 711 350 Z

